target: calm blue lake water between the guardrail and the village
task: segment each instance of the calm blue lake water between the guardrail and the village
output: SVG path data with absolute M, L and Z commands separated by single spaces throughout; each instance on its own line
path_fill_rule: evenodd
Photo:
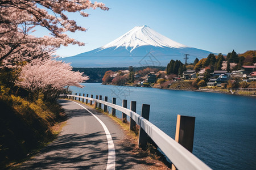
M 73 93 L 93 94 L 150 104 L 150 121 L 175 138 L 177 114 L 195 116 L 193 154 L 213 169 L 256 169 L 256 98 L 208 92 L 84 83 Z M 121 112 L 117 112 L 121 117 Z

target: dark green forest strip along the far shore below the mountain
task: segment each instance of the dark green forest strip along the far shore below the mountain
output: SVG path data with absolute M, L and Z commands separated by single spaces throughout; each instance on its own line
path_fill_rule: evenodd
M 149 66 L 150 68 L 156 68 L 159 70 L 166 70 L 166 67 L 153 67 L 153 66 Z M 146 67 L 134 67 L 134 71 L 138 71 L 138 70 L 143 70 Z M 89 80 L 87 80 L 86 82 L 102 82 L 102 78 L 104 76 L 104 74 L 106 73 L 106 71 L 118 71 L 118 70 L 129 70 L 129 67 L 108 67 L 108 68 L 78 68 L 78 67 L 74 67 L 73 71 L 80 71 L 80 72 L 84 72 L 85 75 L 88 75 L 90 77 Z

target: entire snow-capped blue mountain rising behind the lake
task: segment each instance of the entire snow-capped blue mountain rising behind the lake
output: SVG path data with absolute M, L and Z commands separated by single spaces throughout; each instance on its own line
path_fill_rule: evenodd
M 100 48 L 60 59 L 73 67 L 166 66 L 171 59 L 183 61 L 185 54 L 193 62 L 210 53 L 175 42 L 143 25 Z

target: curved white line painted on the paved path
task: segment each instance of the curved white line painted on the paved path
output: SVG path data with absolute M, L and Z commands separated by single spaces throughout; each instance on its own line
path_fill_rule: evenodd
M 76 103 L 75 101 L 72 101 L 73 103 Z M 88 109 L 86 109 L 85 107 L 83 107 L 81 104 L 76 103 L 78 105 L 80 105 L 82 108 L 84 108 L 86 111 L 88 111 L 90 114 L 92 114 L 92 116 L 94 116 L 101 124 L 101 126 L 103 127 L 105 134 L 106 134 L 106 138 L 108 140 L 108 147 L 109 147 L 109 155 L 108 155 L 108 164 L 106 169 L 115 169 L 115 146 L 114 146 L 114 142 L 112 140 L 111 134 L 109 133 L 108 128 L 106 127 L 106 125 L 104 124 L 104 122 L 102 122 L 100 120 L 100 118 L 98 118 L 95 114 L 93 114 L 92 112 L 90 112 Z

